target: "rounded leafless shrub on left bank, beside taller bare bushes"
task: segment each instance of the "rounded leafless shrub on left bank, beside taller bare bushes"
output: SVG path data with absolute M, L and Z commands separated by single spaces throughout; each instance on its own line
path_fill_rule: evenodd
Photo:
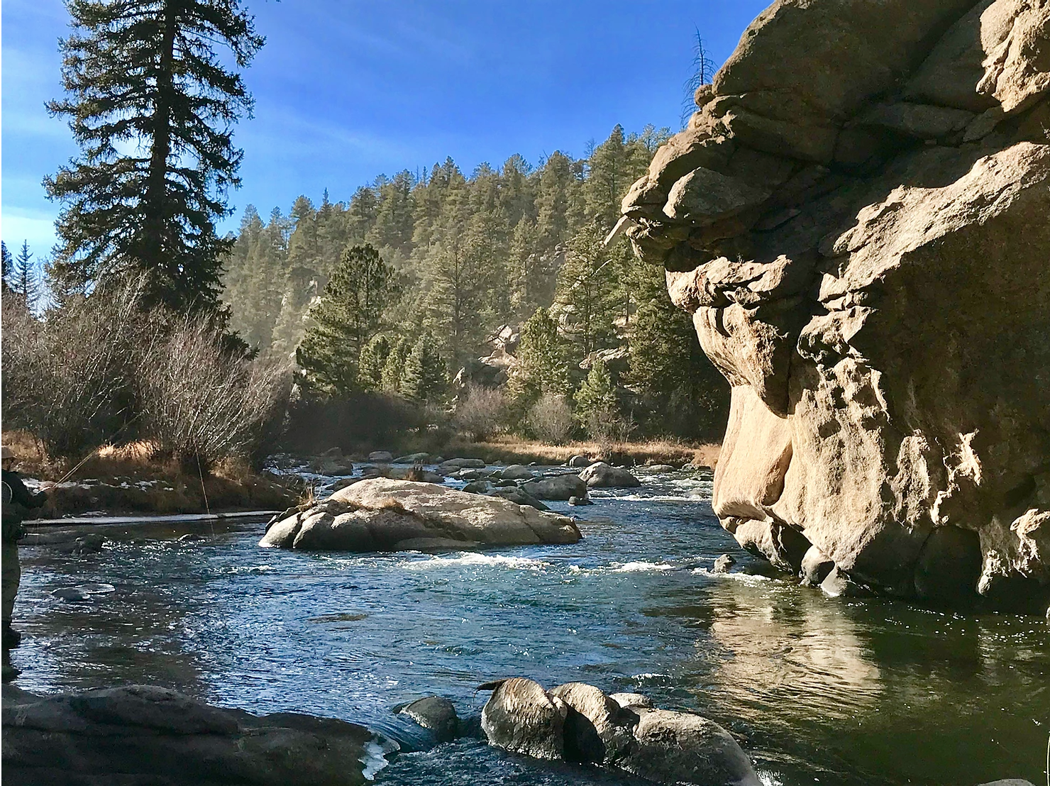
M 144 430 L 190 468 L 250 454 L 290 386 L 285 367 L 225 349 L 202 318 L 176 323 L 145 353 L 138 379 Z

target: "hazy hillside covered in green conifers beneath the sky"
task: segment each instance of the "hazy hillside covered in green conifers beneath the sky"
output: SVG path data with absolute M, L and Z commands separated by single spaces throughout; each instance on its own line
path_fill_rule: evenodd
M 616 126 L 585 158 L 554 152 L 533 167 L 513 155 L 469 176 L 448 158 L 345 201 L 299 196 L 287 216 L 249 206 L 226 267 L 230 326 L 261 355 L 296 358 L 320 396 L 462 403 L 506 382 L 518 430 L 545 399 L 592 436 L 717 431 L 724 383 L 663 270 L 626 241 L 603 243 L 667 135 Z M 379 260 L 354 251 L 365 245 Z M 407 389 L 403 378 L 427 365 L 423 387 Z

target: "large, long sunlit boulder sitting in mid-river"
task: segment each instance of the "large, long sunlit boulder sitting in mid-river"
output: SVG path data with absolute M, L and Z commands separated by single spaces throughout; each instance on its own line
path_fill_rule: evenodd
M 376 477 L 277 522 L 259 546 L 369 552 L 573 544 L 580 537 L 571 518 L 528 505 Z

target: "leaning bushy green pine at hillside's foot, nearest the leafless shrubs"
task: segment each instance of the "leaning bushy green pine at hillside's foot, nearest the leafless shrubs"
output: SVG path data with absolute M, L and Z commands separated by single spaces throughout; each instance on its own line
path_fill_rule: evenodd
M 345 395 L 372 381 L 359 379 L 361 354 L 378 332 L 385 309 L 398 295 L 394 269 L 371 246 L 343 251 L 319 303 L 313 324 L 296 352 L 311 386 Z

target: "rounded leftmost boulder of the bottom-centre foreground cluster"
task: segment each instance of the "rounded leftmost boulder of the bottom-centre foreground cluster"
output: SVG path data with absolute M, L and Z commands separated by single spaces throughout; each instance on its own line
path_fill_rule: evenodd
M 484 687 L 484 686 L 483 686 Z M 568 706 L 532 680 L 499 683 L 481 710 L 490 745 L 537 759 L 561 759 Z

